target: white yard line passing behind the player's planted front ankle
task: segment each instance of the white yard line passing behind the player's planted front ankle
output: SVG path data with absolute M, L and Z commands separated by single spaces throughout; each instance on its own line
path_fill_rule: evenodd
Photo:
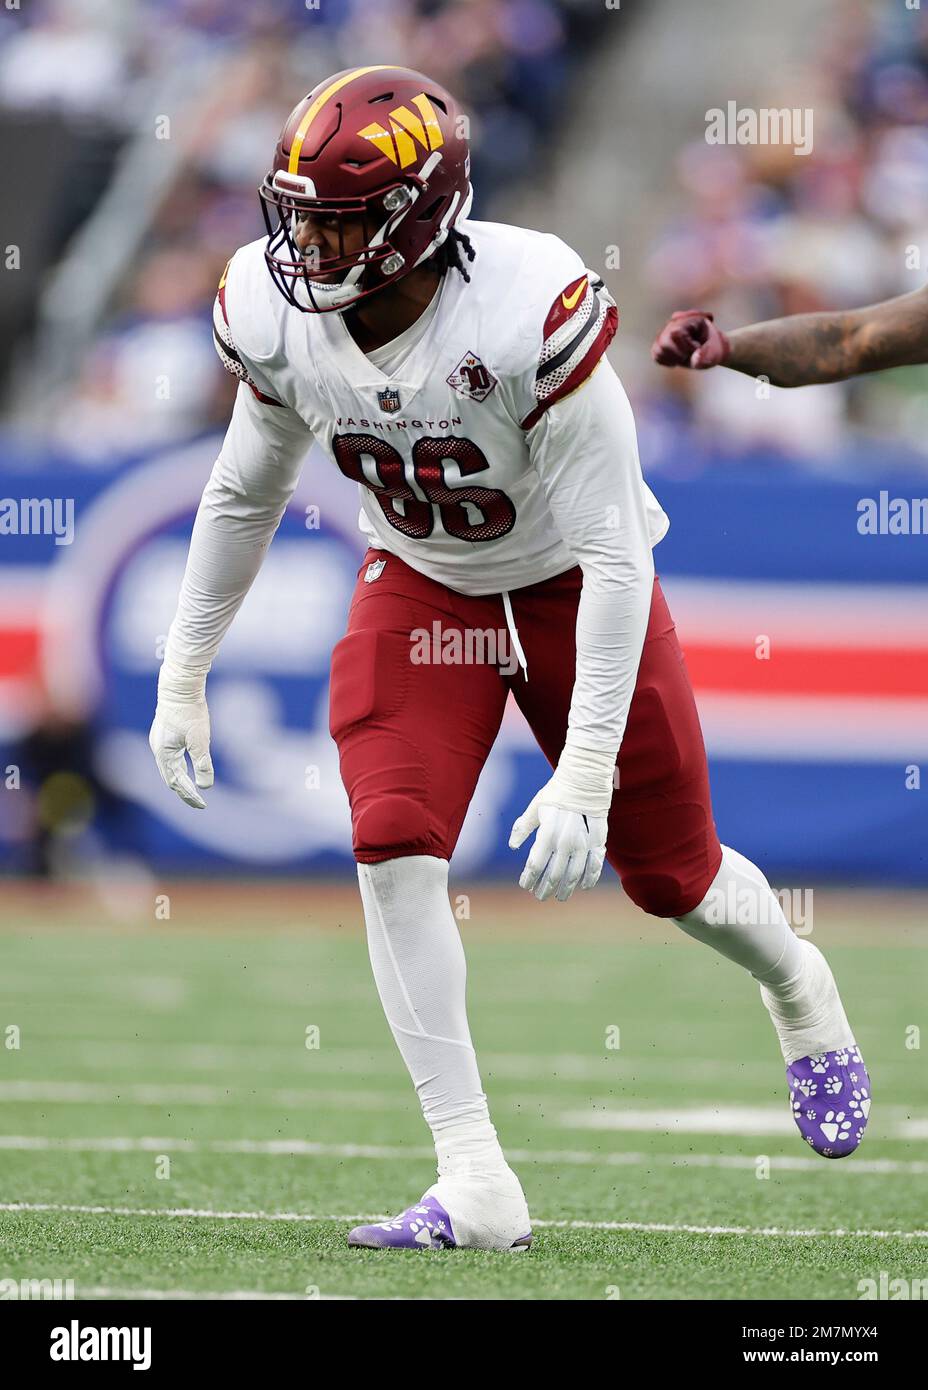
M 410 1159 L 435 1159 L 432 1148 L 406 1144 L 321 1144 L 313 1140 L 292 1138 L 158 1138 L 153 1136 L 118 1136 L 107 1138 L 53 1138 L 39 1134 L 0 1134 L 0 1150 L 22 1152 L 97 1152 L 97 1154 L 251 1154 L 270 1158 L 363 1158 L 408 1162 Z M 743 1154 L 640 1154 L 620 1151 L 596 1154 L 589 1150 L 507 1150 L 515 1163 L 550 1163 L 558 1168 L 731 1168 L 754 1169 L 757 1158 Z M 761 1156 L 761 1155 L 757 1155 Z M 767 1155 L 763 1155 L 767 1156 Z M 827 1159 L 821 1158 L 770 1158 L 771 1170 L 778 1172 L 824 1172 Z M 895 1158 L 852 1158 L 838 1165 L 840 1173 L 907 1173 L 924 1176 L 928 1173 L 925 1159 Z

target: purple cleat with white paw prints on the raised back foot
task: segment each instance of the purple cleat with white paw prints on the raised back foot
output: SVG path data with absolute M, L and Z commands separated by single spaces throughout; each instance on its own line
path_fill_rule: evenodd
M 814 1052 L 786 1068 L 790 1112 L 799 1133 L 822 1158 L 847 1158 L 867 1129 L 870 1077 L 860 1051 Z

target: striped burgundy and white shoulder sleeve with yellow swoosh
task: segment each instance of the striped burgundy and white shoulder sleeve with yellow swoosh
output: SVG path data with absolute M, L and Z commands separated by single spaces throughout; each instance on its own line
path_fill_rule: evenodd
M 556 296 L 540 325 L 533 373 L 525 379 L 521 418 L 531 430 L 556 402 L 582 386 L 618 328 L 615 300 L 600 275 L 583 270 Z

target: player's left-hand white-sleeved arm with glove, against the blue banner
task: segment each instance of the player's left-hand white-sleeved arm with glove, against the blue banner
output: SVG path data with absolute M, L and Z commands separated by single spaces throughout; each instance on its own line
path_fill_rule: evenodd
M 167 785 L 189 806 L 213 785 L 206 677 L 279 525 L 311 435 L 296 411 L 245 381 L 193 523 L 178 609 L 158 676 L 149 744 Z M 186 769 L 190 753 L 196 787 Z

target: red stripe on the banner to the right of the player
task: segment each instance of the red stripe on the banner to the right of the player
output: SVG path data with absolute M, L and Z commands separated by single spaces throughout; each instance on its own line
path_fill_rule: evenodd
M 928 649 L 813 649 L 772 641 L 768 657 L 756 656 L 754 648 L 713 642 L 686 642 L 683 651 L 693 685 L 704 691 L 893 698 L 928 694 Z

